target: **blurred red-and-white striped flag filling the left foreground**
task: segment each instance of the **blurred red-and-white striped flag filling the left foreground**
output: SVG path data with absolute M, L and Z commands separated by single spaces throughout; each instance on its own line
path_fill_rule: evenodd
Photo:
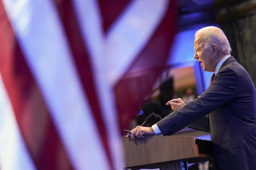
M 174 1 L 0 0 L 0 169 L 119 169 Z

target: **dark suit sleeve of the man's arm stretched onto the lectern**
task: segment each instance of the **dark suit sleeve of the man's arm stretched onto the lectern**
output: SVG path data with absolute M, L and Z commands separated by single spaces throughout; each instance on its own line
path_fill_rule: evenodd
M 157 123 L 164 135 L 172 135 L 235 98 L 238 76 L 231 69 L 221 70 L 213 83 L 197 99 L 190 101 Z

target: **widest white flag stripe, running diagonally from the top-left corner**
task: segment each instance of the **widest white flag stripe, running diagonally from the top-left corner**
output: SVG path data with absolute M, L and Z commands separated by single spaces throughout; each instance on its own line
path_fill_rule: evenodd
M 71 164 L 74 169 L 109 169 L 53 2 L 22 2 L 3 0 Z M 18 11 L 15 14 L 14 8 Z M 24 20 L 22 27 L 20 20 Z

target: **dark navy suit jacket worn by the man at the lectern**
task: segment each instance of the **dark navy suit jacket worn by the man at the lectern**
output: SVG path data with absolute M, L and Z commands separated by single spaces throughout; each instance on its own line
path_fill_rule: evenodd
M 217 169 L 256 169 L 256 90 L 248 72 L 229 57 L 197 99 L 157 123 L 172 135 L 209 114 Z

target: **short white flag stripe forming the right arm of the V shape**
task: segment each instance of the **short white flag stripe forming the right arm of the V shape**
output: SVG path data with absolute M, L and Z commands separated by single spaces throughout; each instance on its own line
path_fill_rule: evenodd
M 106 36 L 109 81 L 114 85 L 141 52 L 165 16 L 168 0 L 134 0 L 111 25 Z M 116 64 L 118 63 L 118 64 Z

